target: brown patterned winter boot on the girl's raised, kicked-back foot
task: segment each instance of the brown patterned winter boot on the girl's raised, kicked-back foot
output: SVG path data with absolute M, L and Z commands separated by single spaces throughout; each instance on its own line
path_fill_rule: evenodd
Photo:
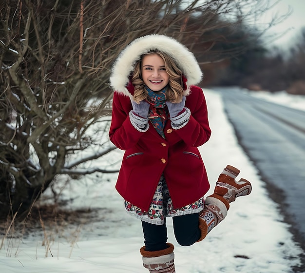
M 227 216 L 230 202 L 238 196 L 251 193 L 252 186 L 248 180 L 235 180 L 239 173 L 238 169 L 228 165 L 218 177 L 214 194 L 206 198 L 204 209 L 199 215 L 201 237 L 198 241 L 203 240 Z

